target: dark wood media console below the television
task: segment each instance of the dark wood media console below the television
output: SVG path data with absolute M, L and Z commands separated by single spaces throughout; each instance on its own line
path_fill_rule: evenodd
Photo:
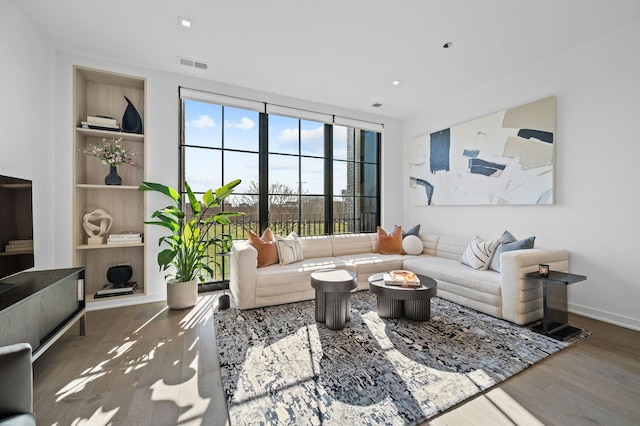
M 0 285 L 0 346 L 29 343 L 35 361 L 76 322 L 85 334 L 84 268 L 22 272 Z

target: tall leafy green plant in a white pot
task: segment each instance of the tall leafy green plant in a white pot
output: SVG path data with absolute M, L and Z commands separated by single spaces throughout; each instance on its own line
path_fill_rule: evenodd
M 202 202 L 196 199 L 188 183 L 184 186 L 187 191 L 190 214 L 183 211 L 180 193 L 175 189 L 160 183 L 142 182 L 141 191 L 154 191 L 164 194 L 172 201 L 171 205 L 156 210 L 151 215 L 152 221 L 145 222 L 167 228 L 170 233 L 158 240 L 158 245 L 168 247 L 158 253 L 158 265 L 161 271 L 173 266 L 167 279 L 167 305 L 170 309 L 185 309 L 194 306 L 198 300 L 198 281 L 204 282 L 201 272 L 207 271 L 213 275 L 209 266 L 209 248 L 217 246 L 228 252 L 233 240 L 231 235 L 216 236 L 216 225 L 226 225 L 231 217 L 242 213 L 222 211 L 213 214 L 212 209 L 219 207 L 227 198 L 240 179 L 216 189 L 209 189 L 202 196 Z M 213 232 L 212 232 L 213 231 Z M 212 235 L 213 234 L 213 235 Z

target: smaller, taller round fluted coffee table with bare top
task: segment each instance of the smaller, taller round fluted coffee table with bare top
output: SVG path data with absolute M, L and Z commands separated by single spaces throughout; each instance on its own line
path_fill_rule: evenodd
M 342 330 L 351 319 L 351 290 L 356 288 L 356 274 L 343 269 L 321 269 L 311 273 L 311 287 L 316 289 L 316 321 L 331 330 Z

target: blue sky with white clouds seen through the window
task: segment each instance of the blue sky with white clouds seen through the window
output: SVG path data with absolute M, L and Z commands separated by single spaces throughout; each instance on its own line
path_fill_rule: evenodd
M 187 148 L 185 160 L 186 181 L 196 192 L 216 189 L 233 179 L 242 184 L 235 193 L 246 192 L 252 181 L 258 181 L 258 127 L 259 113 L 220 105 L 185 101 L 185 140 L 187 145 L 222 147 L 250 152 L 226 152 L 224 170 L 221 152 Z M 299 127 L 300 123 L 300 127 Z M 269 115 L 269 183 L 281 183 L 297 188 L 302 182 L 303 194 L 323 194 L 324 165 L 321 158 L 302 158 L 282 154 L 323 156 L 324 124 L 295 118 Z M 334 126 L 334 159 L 346 159 L 346 128 Z M 299 174 L 299 170 L 301 174 Z M 347 187 L 347 167 L 336 162 L 334 166 L 334 194 Z

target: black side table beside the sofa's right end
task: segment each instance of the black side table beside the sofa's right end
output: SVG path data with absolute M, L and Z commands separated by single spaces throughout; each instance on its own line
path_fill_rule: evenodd
M 586 280 L 586 276 L 549 271 L 548 277 L 541 276 L 538 272 L 530 272 L 525 277 L 542 282 L 543 318 L 541 323 L 533 326 L 533 331 L 556 340 L 566 340 L 582 331 L 569 325 L 567 286 Z

